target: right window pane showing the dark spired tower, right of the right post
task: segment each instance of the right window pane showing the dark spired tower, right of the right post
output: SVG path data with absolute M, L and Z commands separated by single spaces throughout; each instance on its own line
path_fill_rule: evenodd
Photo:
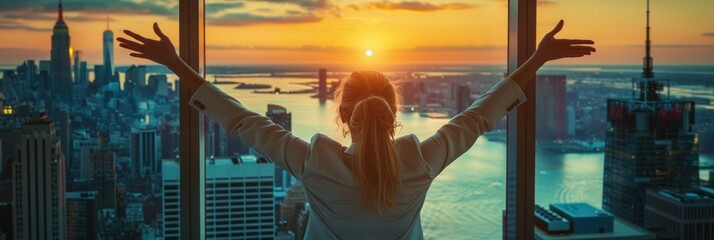
M 705 20 L 712 6 L 651 1 L 648 10 L 644 0 L 539 5 L 538 36 L 562 18 L 559 37 L 592 39 L 597 52 L 538 72 L 536 204 L 587 203 L 616 217 L 616 233 L 626 225 L 618 222 L 629 222 L 688 238 L 658 220 L 662 207 L 675 204 L 655 205 L 651 197 L 659 190 L 697 195 L 694 189 L 709 177 L 714 48 L 703 29 L 714 28 Z

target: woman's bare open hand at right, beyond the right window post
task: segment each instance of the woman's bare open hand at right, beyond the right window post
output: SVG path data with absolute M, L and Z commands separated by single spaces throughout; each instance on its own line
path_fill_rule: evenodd
M 555 34 L 563 29 L 563 20 L 552 31 L 547 33 L 540 41 L 534 57 L 541 63 L 561 59 L 577 58 L 590 55 L 595 52 L 595 48 L 589 46 L 594 44 L 592 40 L 586 39 L 556 39 Z

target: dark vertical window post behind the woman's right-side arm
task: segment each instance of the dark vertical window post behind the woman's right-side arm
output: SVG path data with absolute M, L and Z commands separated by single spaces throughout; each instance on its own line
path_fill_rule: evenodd
M 536 0 L 508 1 L 508 73 L 535 52 Z M 523 92 L 528 101 L 508 114 L 506 211 L 503 239 L 534 239 L 536 81 Z

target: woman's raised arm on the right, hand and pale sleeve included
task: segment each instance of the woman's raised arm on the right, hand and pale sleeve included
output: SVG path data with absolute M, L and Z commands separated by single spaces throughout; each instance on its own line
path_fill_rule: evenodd
M 538 45 L 538 50 L 521 65 L 468 109 L 456 115 L 436 134 L 420 143 L 420 150 L 427 162 L 430 173 L 436 177 L 456 158 L 468 151 L 476 139 L 490 131 L 493 125 L 515 107 L 523 103 L 522 89 L 533 78 L 536 71 L 548 61 L 582 57 L 595 52 L 591 40 L 555 39 L 555 34 L 563 28 L 563 20 L 546 34 Z

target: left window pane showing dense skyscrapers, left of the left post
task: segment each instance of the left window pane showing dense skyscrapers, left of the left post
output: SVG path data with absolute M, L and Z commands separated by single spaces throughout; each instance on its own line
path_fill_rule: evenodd
M 177 16 L 177 0 L 0 3 L 0 238 L 178 234 L 177 78 L 115 41 L 159 22 L 178 44 Z

